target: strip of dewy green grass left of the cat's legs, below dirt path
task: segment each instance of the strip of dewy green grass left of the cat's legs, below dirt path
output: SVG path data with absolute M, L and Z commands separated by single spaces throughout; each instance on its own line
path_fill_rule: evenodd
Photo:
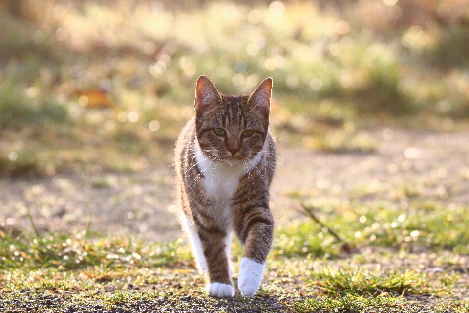
M 12 237 L 0 231 L 0 267 L 7 268 L 57 268 L 71 270 L 94 266 L 119 267 L 124 264 L 145 264 L 158 267 L 189 258 L 182 240 L 169 244 L 148 245 L 134 238 L 104 237 L 54 233 L 37 237 L 21 233 Z M 181 259 L 181 256 L 184 256 Z

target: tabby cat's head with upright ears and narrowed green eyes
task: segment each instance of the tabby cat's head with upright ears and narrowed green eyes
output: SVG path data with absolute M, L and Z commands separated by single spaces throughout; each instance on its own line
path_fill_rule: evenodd
M 195 89 L 195 129 L 200 149 L 225 160 L 254 158 L 264 146 L 269 128 L 272 79 L 253 93 L 224 96 L 205 76 Z

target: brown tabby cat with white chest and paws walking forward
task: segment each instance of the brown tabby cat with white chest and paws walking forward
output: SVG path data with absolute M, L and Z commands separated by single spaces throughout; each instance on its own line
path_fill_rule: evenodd
M 197 268 L 208 274 L 207 292 L 234 296 L 230 267 L 234 231 L 245 246 L 238 288 L 258 290 L 269 254 L 274 219 L 269 186 L 275 141 L 269 131 L 272 78 L 249 95 L 221 95 L 206 76 L 197 79 L 195 116 L 176 143 L 177 201 Z

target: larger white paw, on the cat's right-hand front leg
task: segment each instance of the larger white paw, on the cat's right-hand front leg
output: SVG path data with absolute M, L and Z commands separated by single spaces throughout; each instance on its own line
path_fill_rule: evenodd
M 253 295 L 259 289 L 265 263 L 257 263 L 248 258 L 242 258 L 239 264 L 238 288 L 243 296 Z

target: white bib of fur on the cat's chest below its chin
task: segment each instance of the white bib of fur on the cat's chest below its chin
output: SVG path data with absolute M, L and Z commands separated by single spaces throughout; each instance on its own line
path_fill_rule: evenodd
M 195 145 L 195 159 L 197 167 L 204 175 L 203 182 L 207 195 L 218 202 L 228 205 L 238 187 L 239 179 L 248 171 L 251 171 L 260 162 L 264 154 L 261 150 L 250 161 L 226 161 L 210 160 L 201 151 L 198 144 Z

